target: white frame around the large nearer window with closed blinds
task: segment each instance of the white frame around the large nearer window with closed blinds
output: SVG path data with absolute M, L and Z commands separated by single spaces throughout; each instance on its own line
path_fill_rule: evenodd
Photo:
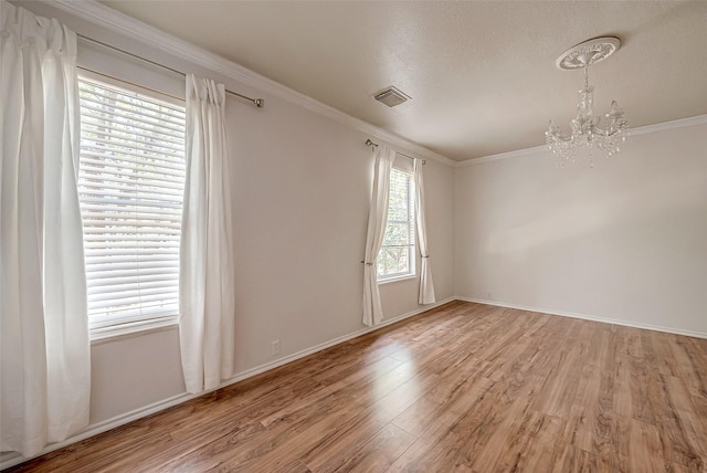
M 128 94 L 131 97 L 135 98 L 139 98 L 139 99 L 144 99 L 146 102 L 151 102 L 151 103 L 161 103 L 171 107 L 177 107 L 180 108 L 180 112 L 183 112 L 184 114 L 184 148 L 183 148 L 183 157 L 184 157 L 184 171 L 186 171 L 186 148 L 187 148 L 187 143 L 186 143 L 186 134 L 187 134 L 187 127 L 186 127 L 186 103 L 183 101 L 177 99 L 168 94 L 162 95 L 160 94 L 158 91 L 154 91 L 151 88 L 144 88 L 138 84 L 134 84 L 131 82 L 126 82 L 126 81 L 122 81 L 119 78 L 114 78 L 114 77 L 107 77 L 101 73 L 92 73 L 88 71 L 84 71 L 84 70 L 78 70 L 77 71 L 77 75 L 78 75 L 78 81 L 81 82 L 88 82 L 88 83 L 95 83 L 99 86 L 103 87 L 107 87 L 110 90 L 116 90 L 118 92 L 123 92 L 125 94 Z M 78 105 L 78 113 L 81 115 L 82 113 L 82 105 L 81 105 L 81 101 L 80 101 L 80 105 Z M 82 124 L 83 125 L 83 124 Z M 83 126 L 80 128 L 80 140 L 83 138 Z M 83 150 L 82 147 L 80 147 L 80 155 L 82 155 Z M 82 160 L 81 156 L 80 156 L 80 161 Z M 80 165 L 81 167 L 81 165 Z M 81 179 L 77 179 L 76 181 L 77 187 L 80 188 L 80 193 L 81 193 Z M 184 176 L 184 180 L 181 183 L 182 186 L 182 193 L 183 193 L 183 187 L 186 186 L 186 176 Z M 81 201 L 81 198 L 80 198 Z M 180 202 L 181 206 L 183 206 L 183 199 Z M 179 209 L 179 214 L 181 216 L 182 213 L 182 208 Z M 83 216 L 83 209 L 82 209 L 82 222 L 84 220 L 84 216 Z M 181 217 L 180 217 L 180 233 L 181 233 Z M 85 238 L 84 233 L 84 238 Z M 180 235 L 181 236 L 181 235 Z M 84 252 L 86 251 L 85 248 L 85 242 L 86 240 L 84 240 Z M 179 243 L 178 243 L 179 245 Z M 179 261 L 179 255 L 177 256 L 177 261 Z M 179 266 L 178 266 L 179 267 Z M 177 273 L 179 273 L 179 269 L 177 270 Z M 87 277 L 88 280 L 88 277 Z M 177 287 L 178 287 L 179 283 L 177 283 Z M 179 297 L 177 295 L 177 297 Z M 176 326 L 179 323 L 179 298 L 177 298 L 177 308 L 175 311 L 165 311 L 165 312 L 160 312 L 158 314 L 140 314 L 140 315 L 135 315 L 135 316 L 130 316 L 130 317 L 126 317 L 126 316 L 117 316 L 115 317 L 113 320 L 109 319 L 104 319 L 104 320 L 92 320 L 91 316 L 87 316 L 87 324 L 88 324 L 88 332 L 89 332 L 89 337 L 92 341 L 101 341 L 101 340 L 106 340 L 106 339 L 113 339 L 116 337 L 124 337 L 124 336 L 129 336 L 129 335 L 135 335 L 135 334 L 143 334 L 146 332 L 152 332 L 152 330 L 161 330 L 168 327 L 172 327 Z

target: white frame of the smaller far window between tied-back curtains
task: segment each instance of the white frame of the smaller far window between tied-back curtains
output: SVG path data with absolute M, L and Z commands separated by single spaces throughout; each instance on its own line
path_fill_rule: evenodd
M 399 159 L 397 157 L 397 159 Z M 393 191 L 392 182 L 393 182 L 393 172 L 399 172 L 405 176 L 407 186 L 408 186 L 408 219 L 407 220 L 389 220 L 390 219 L 390 202 L 391 202 L 391 192 Z M 388 216 L 386 216 L 386 229 L 384 234 L 388 233 L 388 225 L 390 223 L 393 224 L 405 224 L 408 225 L 408 235 L 409 243 L 404 245 L 386 245 L 384 242 L 381 244 L 381 249 L 376 257 L 376 274 L 378 284 L 387 284 L 397 281 L 412 280 L 418 277 L 418 238 L 416 238 L 416 221 L 415 221 L 415 188 L 414 188 L 414 176 L 412 169 L 407 169 L 407 167 L 400 166 L 398 164 L 393 165 L 391 169 L 390 183 L 388 190 Z M 408 254 L 408 271 L 398 272 L 392 274 L 383 274 L 381 275 L 378 271 L 379 260 L 381 257 L 381 253 L 386 248 L 407 248 L 409 251 Z

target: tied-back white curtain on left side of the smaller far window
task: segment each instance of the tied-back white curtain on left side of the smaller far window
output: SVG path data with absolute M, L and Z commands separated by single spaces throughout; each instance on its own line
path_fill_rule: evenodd
M 378 291 L 378 269 L 376 259 L 383 243 L 386 222 L 388 221 L 388 191 L 390 188 L 390 170 L 393 167 L 395 151 L 384 145 L 376 148 L 373 168 L 373 191 L 371 208 L 368 214 L 368 233 L 366 235 L 366 256 L 363 259 L 363 324 L 380 324 L 383 311 L 380 306 Z

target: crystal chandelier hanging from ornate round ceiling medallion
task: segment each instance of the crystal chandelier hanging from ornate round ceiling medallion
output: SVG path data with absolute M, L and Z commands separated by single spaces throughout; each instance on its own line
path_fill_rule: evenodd
M 626 139 L 629 122 L 624 119 L 624 112 L 619 108 L 616 101 L 611 103 L 611 111 L 604 115 L 605 128 L 599 126 L 600 117 L 594 116 L 592 109 L 594 87 L 589 85 L 589 66 L 612 55 L 620 44 L 618 38 L 597 38 L 570 48 L 557 59 L 556 64 L 561 70 L 584 70 L 584 88 L 579 91 L 579 104 L 577 116 L 571 123 L 571 135 L 562 135 L 560 127 L 552 120 L 545 132 L 548 148 L 560 167 L 568 160 L 574 161 L 580 148 L 589 148 L 591 156 L 594 145 L 604 151 L 606 157 L 611 157 L 621 150 L 619 145 Z M 591 158 L 590 166 L 593 166 Z

